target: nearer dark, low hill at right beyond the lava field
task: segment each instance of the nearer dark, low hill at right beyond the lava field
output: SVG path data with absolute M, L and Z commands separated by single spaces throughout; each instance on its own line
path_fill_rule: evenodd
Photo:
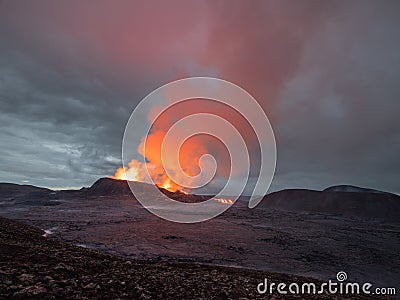
M 265 196 L 258 207 L 400 221 L 400 197 L 386 193 L 291 189 Z

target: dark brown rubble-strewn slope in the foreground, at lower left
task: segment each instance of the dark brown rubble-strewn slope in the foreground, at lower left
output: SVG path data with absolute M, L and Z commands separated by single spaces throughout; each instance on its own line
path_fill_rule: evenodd
M 264 278 L 319 283 L 249 269 L 131 260 L 68 245 L 43 234 L 34 227 L 0 218 L 0 298 L 287 299 L 290 297 L 276 293 L 259 295 L 256 286 Z M 307 298 L 335 297 L 321 294 Z

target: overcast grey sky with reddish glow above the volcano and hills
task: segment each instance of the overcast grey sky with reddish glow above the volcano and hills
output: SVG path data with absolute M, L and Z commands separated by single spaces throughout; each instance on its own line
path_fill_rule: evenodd
M 185 76 L 249 91 L 272 189 L 400 193 L 399 1 L 0 1 L 0 181 L 81 187 L 121 165 L 136 103 Z

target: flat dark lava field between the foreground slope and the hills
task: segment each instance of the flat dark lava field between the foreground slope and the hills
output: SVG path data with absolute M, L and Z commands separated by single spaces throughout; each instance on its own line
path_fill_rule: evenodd
M 39 227 L 49 237 L 129 258 L 257 268 L 322 280 L 343 270 L 352 280 L 400 288 L 399 223 L 250 210 L 238 202 L 213 220 L 178 224 L 130 198 L 57 201 L 3 206 L 0 216 Z

